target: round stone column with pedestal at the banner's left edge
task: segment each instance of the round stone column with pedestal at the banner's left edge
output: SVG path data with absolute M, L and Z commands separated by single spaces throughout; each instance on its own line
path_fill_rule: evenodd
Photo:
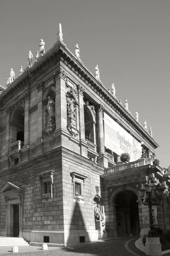
M 99 144 L 99 157 L 97 163 L 101 166 L 108 167 L 108 157 L 105 154 L 104 145 L 104 126 L 103 126 L 103 106 L 99 105 L 98 112 L 98 144 Z

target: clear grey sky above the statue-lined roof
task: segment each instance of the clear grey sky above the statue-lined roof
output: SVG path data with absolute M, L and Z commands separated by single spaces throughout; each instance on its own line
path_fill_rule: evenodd
M 133 116 L 152 127 L 160 166 L 170 165 L 170 0 L 0 0 L 0 84 L 27 67 L 28 52 L 45 51 L 63 39 L 79 44 L 85 66 L 99 65 L 105 87 L 114 83 Z M 34 59 L 33 59 L 34 61 Z

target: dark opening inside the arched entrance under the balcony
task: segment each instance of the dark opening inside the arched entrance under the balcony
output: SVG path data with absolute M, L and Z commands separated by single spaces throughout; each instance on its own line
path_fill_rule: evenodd
M 125 190 L 116 194 L 117 236 L 139 236 L 139 209 L 136 194 Z

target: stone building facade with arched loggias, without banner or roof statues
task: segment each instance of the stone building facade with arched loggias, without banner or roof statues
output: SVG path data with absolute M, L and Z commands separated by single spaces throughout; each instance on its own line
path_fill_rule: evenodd
M 144 142 L 144 158 L 119 163 L 105 147 L 104 113 Z M 68 245 L 142 234 L 140 183 L 154 173 L 169 184 L 153 165 L 153 137 L 60 39 L 0 94 L 0 145 L 1 236 Z M 167 228 L 163 197 L 155 223 Z

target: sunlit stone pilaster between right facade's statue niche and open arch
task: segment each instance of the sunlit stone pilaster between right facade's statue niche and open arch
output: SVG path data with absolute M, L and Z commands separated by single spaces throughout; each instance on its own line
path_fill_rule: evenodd
M 85 142 L 85 118 L 84 118 L 84 104 L 83 104 L 83 92 L 84 89 L 79 85 L 78 86 L 78 95 L 79 95 L 79 147 L 80 154 L 84 157 L 88 156 L 87 144 Z

